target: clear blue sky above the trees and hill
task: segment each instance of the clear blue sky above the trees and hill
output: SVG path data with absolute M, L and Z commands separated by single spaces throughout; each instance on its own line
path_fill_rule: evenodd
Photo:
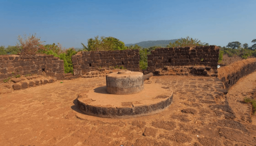
M 185 38 L 210 45 L 256 39 L 256 0 L 0 0 L 0 46 L 34 34 L 62 46 L 89 38 L 125 44 Z

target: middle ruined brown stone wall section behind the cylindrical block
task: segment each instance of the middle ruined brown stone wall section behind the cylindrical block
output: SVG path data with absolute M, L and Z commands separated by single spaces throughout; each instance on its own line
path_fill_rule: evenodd
M 72 56 L 74 76 L 81 76 L 98 68 L 123 66 L 131 71 L 139 71 L 139 50 L 82 51 Z

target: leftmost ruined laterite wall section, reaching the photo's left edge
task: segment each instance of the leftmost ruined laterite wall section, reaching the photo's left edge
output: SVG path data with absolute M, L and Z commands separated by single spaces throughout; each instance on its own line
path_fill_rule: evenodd
M 64 79 L 64 62 L 53 55 L 0 55 L 0 79 L 26 74 L 42 74 Z

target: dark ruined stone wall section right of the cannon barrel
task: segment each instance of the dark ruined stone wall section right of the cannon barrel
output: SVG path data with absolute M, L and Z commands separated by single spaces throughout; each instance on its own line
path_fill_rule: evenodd
M 148 56 L 148 71 L 165 66 L 208 66 L 216 70 L 219 58 L 219 47 L 197 46 L 180 48 L 158 48 Z

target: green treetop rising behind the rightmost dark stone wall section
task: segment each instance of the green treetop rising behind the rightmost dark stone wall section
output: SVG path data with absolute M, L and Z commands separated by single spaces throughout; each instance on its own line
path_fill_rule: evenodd
M 198 39 L 193 39 L 193 38 L 181 38 L 175 41 L 174 43 L 170 42 L 169 45 L 166 47 L 194 47 L 194 46 L 203 46 L 203 45 L 209 45 L 208 43 L 202 43 Z

